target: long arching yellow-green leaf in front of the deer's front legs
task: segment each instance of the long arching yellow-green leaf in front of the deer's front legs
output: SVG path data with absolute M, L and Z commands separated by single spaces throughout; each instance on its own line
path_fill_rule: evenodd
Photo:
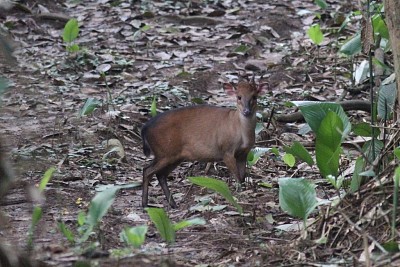
M 238 210 L 240 214 L 243 213 L 242 207 L 237 203 L 237 201 L 233 198 L 231 191 L 229 190 L 228 185 L 221 180 L 217 180 L 209 177 L 188 177 L 188 180 L 196 184 L 198 186 L 202 186 L 208 189 L 211 189 L 218 194 L 222 195 L 229 203 L 231 203 Z

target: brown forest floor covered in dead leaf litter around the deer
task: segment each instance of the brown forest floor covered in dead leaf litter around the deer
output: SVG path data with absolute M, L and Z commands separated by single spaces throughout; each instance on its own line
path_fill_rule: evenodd
M 276 266 L 302 265 L 346 259 L 353 262 L 360 251 L 347 252 L 329 245 L 299 243 L 299 232 L 285 232 L 277 225 L 293 222 L 279 208 L 277 179 L 306 177 L 319 185 L 319 197 L 335 192 L 318 180 L 315 169 L 303 165 L 289 168 L 267 154 L 250 171 L 247 188 L 235 192 L 245 215 L 231 205 L 221 211 L 192 211 L 198 196 L 209 194 L 191 186 L 187 176 L 204 175 L 204 164 L 185 163 L 171 175 L 169 185 L 178 209 L 168 208 L 154 179 L 150 203 L 165 207 L 173 221 L 203 217 L 207 224 L 179 231 L 167 247 L 141 207 L 141 190 L 121 190 L 98 230 L 103 257 L 85 258 L 60 233 L 57 222 L 76 228 L 77 214 L 87 210 L 99 185 L 141 182 L 143 155 L 140 128 L 150 118 L 150 105 L 157 96 L 159 112 L 206 103 L 230 106 L 221 81 L 237 79 L 239 72 L 265 72 L 271 91 L 260 100 L 260 111 L 291 112 L 290 100 L 335 100 L 349 83 L 350 62 L 337 56 L 335 36 L 327 34 L 317 48 L 305 34 L 306 26 L 323 14 L 323 23 L 337 27 L 331 11 L 347 14 L 355 7 L 331 1 L 321 11 L 313 1 L 33 1 L 28 10 L 2 12 L 15 45 L 17 65 L 2 64 L 10 88 L 3 96 L 0 133 L 10 152 L 18 181 L 2 200 L 6 224 L 0 234 L 25 250 L 33 203 L 29 193 L 51 166 L 57 172 L 45 191 L 43 218 L 34 233 L 32 258 L 48 265 L 72 266 L 87 261 L 99 266 Z M 50 16 L 43 13 L 49 12 Z M 42 14 L 42 16 L 40 15 Z M 63 16 L 57 17 L 57 14 Z M 65 17 L 77 18 L 81 51 L 70 54 L 61 38 Z M 149 25 L 142 32 L 139 28 Z M 351 28 L 350 28 L 351 29 Z M 350 36 L 351 31 L 347 32 Z M 343 37 L 344 38 L 344 37 Z M 246 45 L 247 51 L 237 51 Z M 319 55 L 319 58 L 317 58 Z M 102 65 L 104 64 L 104 65 Z M 335 65 L 336 64 L 336 65 Z M 99 75 L 106 67 L 106 79 Z M 107 87 L 114 108 L 107 110 Z M 79 117 L 87 98 L 102 101 L 92 115 Z M 360 91 L 356 96 L 364 98 Z M 265 123 L 264 126 L 267 124 Z M 282 150 L 293 138 L 306 142 L 312 136 L 295 133 L 301 125 L 272 123 L 257 139 L 257 146 Z M 108 164 L 103 141 L 116 138 L 123 144 L 126 162 Z M 234 190 L 235 183 L 223 164 L 207 174 L 218 177 Z M 260 182 L 272 188 L 258 186 Z M 332 191 L 332 192 L 331 192 Z M 214 204 L 227 204 L 213 195 Z M 148 224 L 151 233 L 141 250 L 120 260 L 107 253 L 125 246 L 119 233 L 125 226 Z M 312 235 L 312 233 L 311 233 Z M 312 236 L 317 239 L 319 236 Z M 95 237 L 93 237 L 93 240 Z M 354 254 L 355 253 L 355 254 Z M 357 254 L 358 253 L 358 254 Z

